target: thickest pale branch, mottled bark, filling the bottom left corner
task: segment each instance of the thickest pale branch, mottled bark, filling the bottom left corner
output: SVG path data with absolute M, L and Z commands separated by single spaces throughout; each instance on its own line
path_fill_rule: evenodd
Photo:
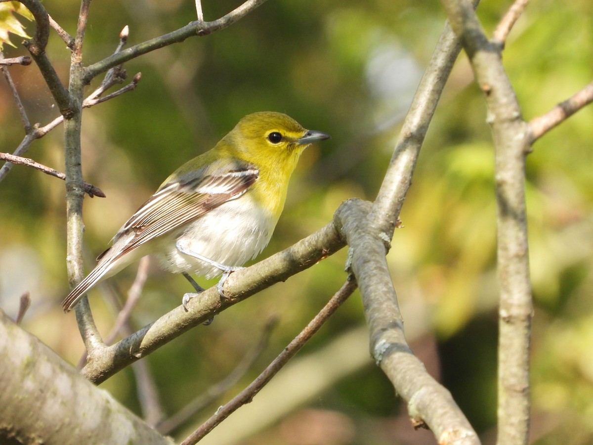
M 0 355 L 0 443 L 172 443 L 1 310 Z

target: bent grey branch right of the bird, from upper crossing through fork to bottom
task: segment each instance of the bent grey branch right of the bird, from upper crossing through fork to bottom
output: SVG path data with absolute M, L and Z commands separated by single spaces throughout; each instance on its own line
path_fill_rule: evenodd
M 476 444 L 479 440 L 451 394 L 426 373 L 406 344 L 396 291 L 385 263 L 384 243 L 388 244 L 397 227 L 426 131 L 460 50 L 451 27 L 445 24 L 404 120 L 377 199 L 359 215 L 364 222 L 350 218 L 342 227 L 349 236 L 352 271 L 359 281 L 371 330 L 371 354 L 408 403 L 414 421 L 427 424 L 443 444 Z

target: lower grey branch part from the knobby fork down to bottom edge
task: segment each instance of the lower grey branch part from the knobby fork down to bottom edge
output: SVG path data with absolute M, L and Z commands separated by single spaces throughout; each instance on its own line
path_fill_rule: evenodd
M 371 204 L 358 199 L 347 203 L 336 212 L 336 226 L 345 233 L 350 248 L 350 267 L 361 290 L 375 362 L 407 401 L 410 416 L 428 425 L 439 443 L 478 444 L 475 431 L 451 393 L 426 372 L 407 345 L 385 259 L 385 240 L 369 225 Z

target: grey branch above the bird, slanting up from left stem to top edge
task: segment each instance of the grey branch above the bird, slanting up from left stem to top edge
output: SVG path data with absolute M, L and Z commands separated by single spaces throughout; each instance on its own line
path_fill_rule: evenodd
M 154 51 L 155 49 L 172 45 L 173 43 L 183 42 L 189 37 L 206 36 L 215 31 L 231 26 L 237 20 L 249 14 L 251 11 L 253 11 L 253 9 L 259 7 L 264 2 L 266 2 L 266 0 L 247 0 L 240 7 L 234 9 L 218 20 L 209 22 L 199 20 L 193 21 L 183 28 L 173 31 L 172 33 L 156 37 L 155 39 L 147 40 L 146 42 L 139 43 L 138 45 L 134 45 L 119 53 L 113 54 L 100 62 L 93 63 L 93 65 L 88 66 L 85 69 L 84 82 L 85 84 L 88 84 L 98 74 L 101 74 L 102 72 L 105 72 L 116 65 L 120 65 L 123 62 L 127 62 L 130 59 L 136 58 L 142 54 Z

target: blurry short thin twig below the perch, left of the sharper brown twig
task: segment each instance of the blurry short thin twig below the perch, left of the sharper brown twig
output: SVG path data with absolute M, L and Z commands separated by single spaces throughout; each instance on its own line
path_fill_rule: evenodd
M 262 352 L 267 346 L 267 343 L 270 339 L 270 334 L 275 326 L 278 324 L 278 318 L 272 317 L 264 326 L 262 335 L 260 336 L 259 341 L 252 347 L 247 354 L 243 356 L 239 364 L 235 367 L 234 370 L 230 374 L 228 374 L 225 379 L 221 380 L 220 382 L 213 384 L 210 386 L 204 393 L 200 394 L 189 402 L 186 406 L 181 408 L 178 412 L 172 415 L 170 418 L 165 419 L 160 424 L 157 425 L 157 430 L 161 434 L 168 434 L 171 431 L 175 430 L 181 424 L 187 421 L 190 417 L 199 412 L 206 406 L 210 405 L 216 399 L 218 399 L 222 394 L 227 392 L 235 383 L 244 376 L 249 368 L 256 362 L 257 358 L 260 357 Z M 136 362 L 136 363 L 142 363 Z

